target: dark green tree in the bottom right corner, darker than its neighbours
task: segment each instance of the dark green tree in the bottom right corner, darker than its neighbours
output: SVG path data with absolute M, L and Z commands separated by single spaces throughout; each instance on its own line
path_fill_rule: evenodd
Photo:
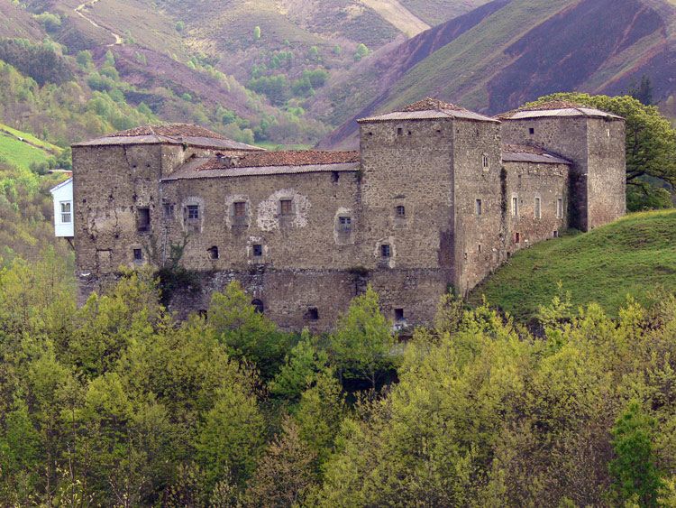
M 623 502 L 636 496 L 641 506 L 657 506 L 662 479 L 653 455 L 653 425 L 641 404 L 632 401 L 612 429 L 616 457 L 608 467 Z

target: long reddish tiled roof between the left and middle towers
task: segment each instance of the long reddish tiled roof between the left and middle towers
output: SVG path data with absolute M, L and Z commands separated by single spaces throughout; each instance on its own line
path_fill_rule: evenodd
M 263 168 L 273 166 L 315 166 L 360 162 L 359 152 L 330 152 L 319 150 L 285 152 L 225 152 L 209 159 L 196 171 L 224 168 Z

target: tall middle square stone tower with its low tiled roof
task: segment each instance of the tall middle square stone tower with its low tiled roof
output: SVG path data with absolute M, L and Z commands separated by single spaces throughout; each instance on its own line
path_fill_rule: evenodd
M 360 125 L 363 248 L 374 286 L 391 289 L 383 268 L 442 292 L 480 282 L 503 250 L 499 122 L 425 99 Z

